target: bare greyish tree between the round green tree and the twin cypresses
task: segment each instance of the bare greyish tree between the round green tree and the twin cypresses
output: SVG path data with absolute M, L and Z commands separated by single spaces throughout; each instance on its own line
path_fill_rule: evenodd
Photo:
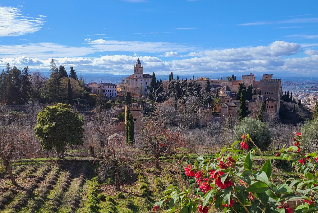
M 90 116 L 88 122 L 88 129 L 90 134 L 100 144 L 101 152 L 107 153 L 108 150 L 108 137 L 112 128 L 112 118 L 114 111 L 108 109 L 97 110 Z

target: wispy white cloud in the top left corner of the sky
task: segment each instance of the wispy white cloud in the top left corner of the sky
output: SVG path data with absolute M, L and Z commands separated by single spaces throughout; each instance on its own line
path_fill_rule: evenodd
M 25 17 L 21 10 L 15 7 L 0 6 L 0 37 L 33 33 L 38 31 L 43 23 L 43 18 Z

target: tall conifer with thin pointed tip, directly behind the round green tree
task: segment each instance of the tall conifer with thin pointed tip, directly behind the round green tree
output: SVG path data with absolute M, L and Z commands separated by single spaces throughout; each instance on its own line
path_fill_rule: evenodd
M 53 58 L 51 60 L 50 70 L 50 78 L 48 78 L 45 83 L 45 92 L 50 101 L 59 102 L 65 98 L 65 89 L 61 79 L 59 78 L 59 72 L 55 68 Z

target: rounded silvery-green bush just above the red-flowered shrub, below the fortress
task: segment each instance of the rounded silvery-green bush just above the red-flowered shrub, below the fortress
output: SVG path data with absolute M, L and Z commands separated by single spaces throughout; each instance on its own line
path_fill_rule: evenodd
M 269 124 L 249 117 L 244 118 L 234 127 L 234 139 L 239 140 L 242 134 L 250 134 L 256 146 L 265 150 L 272 142 Z M 251 146 L 251 144 L 249 144 Z

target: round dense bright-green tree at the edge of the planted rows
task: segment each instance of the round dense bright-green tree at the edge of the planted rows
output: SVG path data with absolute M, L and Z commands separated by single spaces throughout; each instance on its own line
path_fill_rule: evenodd
M 34 132 L 44 150 L 55 149 L 64 159 L 66 146 L 84 143 L 84 119 L 70 105 L 58 103 L 47 106 L 38 113 L 37 119 L 38 125 L 34 127 Z

